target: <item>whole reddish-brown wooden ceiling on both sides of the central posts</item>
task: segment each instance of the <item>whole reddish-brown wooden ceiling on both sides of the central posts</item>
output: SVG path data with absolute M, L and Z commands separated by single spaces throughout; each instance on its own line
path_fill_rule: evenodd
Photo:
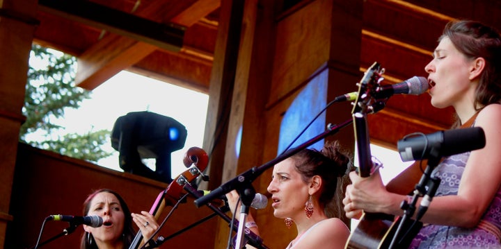
M 277 2 L 298 6 L 310 1 Z M 94 89 L 127 69 L 208 92 L 221 1 L 38 2 L 35 42 L 77 56 L 79 86 Z M 424 65 L 447 22 L 475 19 L 501 30 L 500 13 L 501 1 L 494 0 L 366 0 L 360 71 L 377 61 L 386 69 L 387 83 L 426 77 Z M 432 108 L 427 94 L 393 96 L 381 112 L 371 121 L 371 134 L 385 141 L 383 136 L 397 126 L 426 132 L 452 124 L 451 110 Z

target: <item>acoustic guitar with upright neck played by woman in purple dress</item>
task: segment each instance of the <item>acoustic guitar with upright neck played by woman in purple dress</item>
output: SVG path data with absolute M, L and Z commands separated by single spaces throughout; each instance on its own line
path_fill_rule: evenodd
M 384 105 L 381 100 L 372 97 L 377 87 L 379 87 L 379 82 L 383 80 L 381 78 L 383 72 L 384 69 L 381 69 L 378 62 L 374 62 L 367 69 L 362 80 L 358 83 L 358 96 L 353 103 L 351 112 L 357 144 L 358 175 L 363 178 L 368 177 L 376 168 L 381 166 L 378 162 L 372 160 L 367 113 L 374 112 L 374 106 L 376 105 Z M 381 108 L 381 106 L 378 108 Z M 389 248 L 400 222 L 401 217 L 395 218 L 390 214 L 363 212 L 358 225 L 351 232 L 345 248 Z M 412 220 L 406 221 L 403 230 L 408 231 L 412 223 Z M 417 225 L 412 226 L 408 233 L 399 234 L 404 235 L 404 237 L 396 238 L 397 248 L 408 248 L 421 226 L 422 223 L 417 223 Z

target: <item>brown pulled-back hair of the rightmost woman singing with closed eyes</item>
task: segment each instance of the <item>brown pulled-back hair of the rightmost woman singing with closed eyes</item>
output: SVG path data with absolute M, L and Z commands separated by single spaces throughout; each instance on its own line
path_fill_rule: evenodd
M 475 110 L 501 103 L 501 37 L 498 31 L 480 22 L 459 20 L 447 23 L 438 41 L 445 37 L 467 58 L 486 61 L 475 94 Z M 458 119 L 454 126 L 459 125 Z

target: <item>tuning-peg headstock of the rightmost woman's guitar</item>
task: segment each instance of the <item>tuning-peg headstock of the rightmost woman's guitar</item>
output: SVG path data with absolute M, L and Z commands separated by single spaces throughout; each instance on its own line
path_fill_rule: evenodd
M 353 110 L 351 110 L 351 114 L 355 114 L 356 112 L 367 113 L 371 111 L 369 109 L 372 108 L 372 104 L 375 101 L 372 97 L 372 93 L 379 87 L 379 82 L 383 80 L 381 77 L 383 74 L 384 69 L 381 68 L 378 62 L 374 62 L 369 69 L 365 71 L 360 83 L 357 83 L 358 95 L 356 100 L 352 103 Z

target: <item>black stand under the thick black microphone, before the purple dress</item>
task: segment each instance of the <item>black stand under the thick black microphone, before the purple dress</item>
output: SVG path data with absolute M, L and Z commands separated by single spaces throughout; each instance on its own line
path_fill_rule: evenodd
M 404 230 L 404 226 L 408 225 L 408 221 L 410 221 L 410 219 L 414 215 L 417 198 L 419 198 L 420 196 L 424 196 L 424 194 L 426 193 L 426 186 L 428 185 L 428 182 L 431 179 L 430 177 L 431 173 L 434 170 L 434 168 L 438 165 L 438 162 L 440 162 L 441 157 L 438 151 L 439 151 L 438 148 L 431 148 L 430 157 L 427 162 L 427 168 L 424 169 L 424 173 L 422 174 L 420 181 L 415 186 L 411 203 L 407 203 L 406 200 L 404 200 L 401 203 L 401 209 L 404 209 L 404 215 L 401 216 L 401 220 L 399 222 L 397 230 L 395 231 L 390 246 L 388 247 L 389 249 L 394 248 L 395 246 L 397 246 L 397 243 L 404 240 L 404 237 L 402 237 L 401 239 L 399 239 L 399 242 L 397 242 L 397 238 L 399 237 L 399 234 Z M 433 178 L 433 182 L 436 182 L 436 178 Z M 432 188 L 434 188 L 434 190 L 429 191 L 429 193 L 432 192 L 434 194 L 434 192 L 436 191 L 436 187 L 438 187 L 438 184 L 432 184 L 432 185 L 433 185 Z M 422 216 L 422 214 L 420 214 L 420 216 Z M 421 217 L 418 217 L 418 219 L 419 218 Z M 416 219 L 415 221 L 417 222 L 418 219 Z M 407 228 L 409 231 L 412 229 L 412 226 Z

